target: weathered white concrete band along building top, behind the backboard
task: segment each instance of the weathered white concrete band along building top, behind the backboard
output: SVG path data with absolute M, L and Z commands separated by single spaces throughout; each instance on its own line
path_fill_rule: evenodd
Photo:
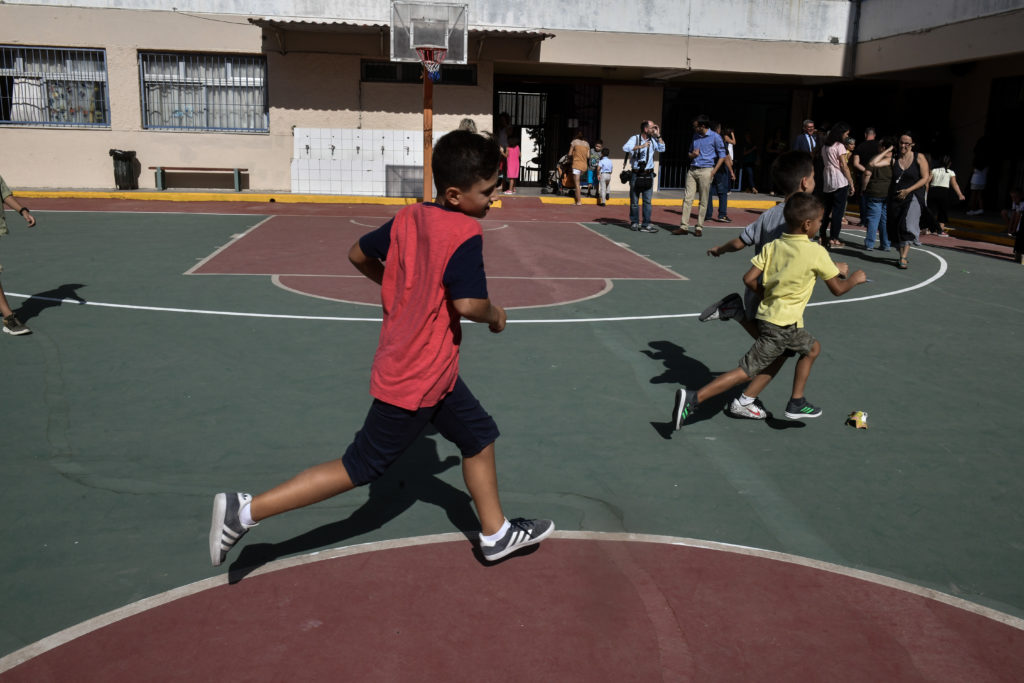
M 874 0 L 871 0 L 873 2 Z M 389 24 L 390 0 L 5 0 L 8 4 L 170 10 Z M 466 0 L 471 28 L 606 31 L 750 40 L 845 43 L 849 0 Z M 865 3 L 870 4 L 870 3 Z M 915 4 L 915 3 L 907 3 Z

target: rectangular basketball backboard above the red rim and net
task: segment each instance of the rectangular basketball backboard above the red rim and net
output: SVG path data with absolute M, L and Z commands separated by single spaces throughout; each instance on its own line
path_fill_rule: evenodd
M 466 63 L 467 5 L 391 3 L 391 61 L 419 61 L 417 47 L 447 49 L 445 63 Z

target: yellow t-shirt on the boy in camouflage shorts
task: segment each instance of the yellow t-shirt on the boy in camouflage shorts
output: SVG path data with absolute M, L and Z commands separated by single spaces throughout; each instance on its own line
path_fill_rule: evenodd
M 758 319 L 785 327 L 804 327 L 804 308 L 817 279 L 831 280 L 839 268 L 821 245 L 806 234 L 783 232 L 751 259 L 764 273 L 765 296 L 758 306 Z

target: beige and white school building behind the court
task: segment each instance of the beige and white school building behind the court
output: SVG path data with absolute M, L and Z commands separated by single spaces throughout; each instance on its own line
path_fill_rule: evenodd
M 800 122 L 915 131 L 990 201 L 1024 181 L 1024 0 L 519 0 L 465 3 L 466 63 L 442 68 L 433 128 L 508 112 L 540 180 L 582 128 L 622 160 L 662 123 L 679 186 L 705 113 L 764 145 Z M 112 188 L 111 150 L 153 167 L 240 169 L 243 188 L 417 196 L 419 65 L 392 62 L 389 0 L 4 0 L 0 172 L 22 188 Z M 232 172 L 168 171 L 176 187 Z M 615 179 L 617 183 L 617 178 Z M 966 183 L 965 183 L 966 184 Z M 621 187 L 620 187 L 621 188 Z

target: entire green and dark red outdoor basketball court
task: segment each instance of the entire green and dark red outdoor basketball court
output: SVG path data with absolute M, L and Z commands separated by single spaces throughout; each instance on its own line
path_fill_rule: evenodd
M 558 531 L 485 565 L 458 452 L 265 521 L 211 567 L 211 497 L 338 457 L 369 407 L 374 288 L 347 264 L 398 206 L 34 200 L 3 243 L 30 337 L 0 339 L 0 681 L 971 680 L 1024 668 L 1024 464 L 1008 427 L 1020 266 L 926 239 L 818 287 L 817 420 L 678 432 L 735 367 L 698 323 L 752 253 L 728 226 L 513 199 L 482 221 L 493 335 L 462 376 L 502 430 L 503 504 Z M 763 395 L 781 415 L 792 368 Z M 866 411 L 868 429 L 844 424 Z

